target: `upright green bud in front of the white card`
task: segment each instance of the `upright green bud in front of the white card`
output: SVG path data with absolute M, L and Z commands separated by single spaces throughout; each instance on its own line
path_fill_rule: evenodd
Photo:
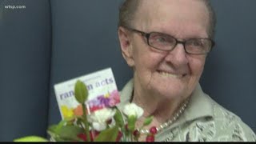
M 79 80 L 75 83 L 74 86 L 74 97 L 81 104 L 84 104 L 88 98 L 87 87 L 83 82 Z

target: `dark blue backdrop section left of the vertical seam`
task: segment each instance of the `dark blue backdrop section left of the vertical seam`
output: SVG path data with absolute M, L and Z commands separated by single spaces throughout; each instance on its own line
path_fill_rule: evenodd
M 50 1 L 0 1 L 0 141 L 45 136 L 50 84 Z M 26 9 L 4 9 L 4 6 Z

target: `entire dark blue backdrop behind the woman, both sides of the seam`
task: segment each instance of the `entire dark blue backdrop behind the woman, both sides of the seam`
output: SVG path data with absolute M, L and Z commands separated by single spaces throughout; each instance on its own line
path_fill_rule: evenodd
M 121 2 L 0 1 L 0 141 L 46 136 L 47 126 L 61 119 L 54 83 L 112 67 L 122 89 L 132 71 L 118 44 Z M 206 61 L 202 88 L 256 131 L 256 1 L 212 3 L 217 45 Z

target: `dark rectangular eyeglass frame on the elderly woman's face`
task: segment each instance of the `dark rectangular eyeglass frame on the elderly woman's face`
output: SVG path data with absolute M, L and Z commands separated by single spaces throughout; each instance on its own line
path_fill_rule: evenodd
M 146 32 L 143 32 L 143 31 L 141 31 L 141 30 L 136 30 L 136 29 L 127 28 L 127 27 L 125 27 L 125 28 L 126 28 L 127 30 L 134 31 L 134 32 L 137 32 L 137 33 L 139 33 L 139 34 L 142 34 L 142 36 L 146 38 L 146 42 L 147 42 L 147 45 L 148 45 L 148 46 L 151 46 L 151 45 L 150 45 L 150 34 L 153 34 L 153 33 L 156 33 L 156 34 L 164 34 L 164 33 L 160 33 L 160 32 L 150 32 L 150 33 L 146 33 Z M 167 36 L 170 37 L 170 38 L 174 38 L 174 36 L 171 36 L 170 34 L 164 34 L 164 35 L 167 35 Z M 206 40 L 210 40 L 210 42 L 211 42 L 210 50 L 209 50 L 208 52 L 202 53 L 202 54 L 193 54 L 193 53 L 187 52 L 187 50 L 186 50 L 186 42 L 190 41 L 191 39 L 206 39 Z M 190 38 L 190 39 L 187 39 L 187 40 L 185 40 L 185 41 L 179 41 L 177 38 L 174 38 L 174 40 L 175 40 L 175 45 L 174 45 L 174 47 L 173 47 L 171 50 L 174 50 L 175 47 L 180 43 L 180 44 L 182 44 L 182 46 L 184 47 L 184 50 L 186 51 L 186 54 L 193 54 L 193 55 L 205 55 L 205 54 L 209 54 L 210 51 L 213 49 L 213 47 L 214 47 L 214 45 L 215 45 L 214 40 L 212 40 L 212 39 L 210 39 L 210 38 Z M 151 47 L 153 47 L 154 49 L 157 49 L 157 50 L 162 50 L 162 49 L 159 49 L 159 48 L 157 48 L 157 47 L 155 47 L 155 46 L 151 46 Z M 162 50 L 162 51 L 171 51 L 171 50 Z

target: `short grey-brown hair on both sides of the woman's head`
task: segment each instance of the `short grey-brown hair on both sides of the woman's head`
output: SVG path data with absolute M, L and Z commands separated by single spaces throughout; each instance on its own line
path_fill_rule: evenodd
M 126 0 L 122 3 L 119 8 L 119 22 L 118 27 L 130 27 L 131 22 L 134 21 L 135 13 L 139 6 L 139 0 Z M 209 30 L 208 34 L 210 38 L 214 38 L 215 26 L 216 26 L 216 16 L 213 7 L 210 4 L 210 0 L 202 0 L 205 3 L 208 11 L 209 11 Z

